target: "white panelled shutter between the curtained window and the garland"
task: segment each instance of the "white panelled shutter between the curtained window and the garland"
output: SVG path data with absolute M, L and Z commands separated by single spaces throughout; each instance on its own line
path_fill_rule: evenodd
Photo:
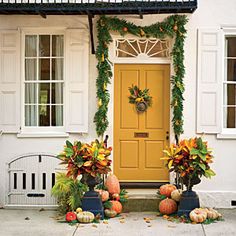
M 66 31 L 66 131 L 88 132 L 88 33 Z

